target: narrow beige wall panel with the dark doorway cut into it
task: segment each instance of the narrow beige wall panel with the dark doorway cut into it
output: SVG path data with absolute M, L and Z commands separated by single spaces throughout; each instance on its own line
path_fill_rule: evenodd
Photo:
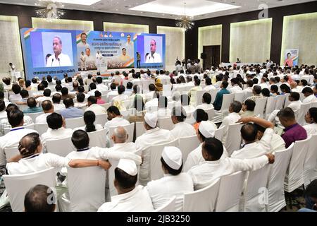
M 204 45 L 221 45 L 222 31 L 223 25 L 212 25 L 198 28 L 198 59 L 200 59 L 200 54 L 203 52 Z

